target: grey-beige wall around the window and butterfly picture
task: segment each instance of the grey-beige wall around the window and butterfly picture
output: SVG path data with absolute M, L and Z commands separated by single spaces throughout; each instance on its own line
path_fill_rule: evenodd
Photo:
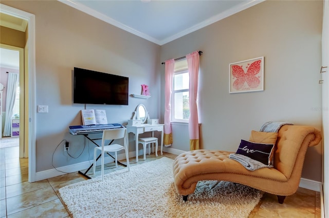
M 161 46 L 161 62 L 203 51 L 198 100 L 203 148 L 236 151 L 242 138 L 267 121 L 322 129 L 322 5 L 265 1 Z M 265 57 L 265 90 L 229 94 L 229 64 L 259 56 Z M 164 74 L 163 66 L 162 86 Z M 187 145 L 174 142 L 172 148 Z M 308 149 L 304 178 L 321 181 L 321 154 L 321 144 Z

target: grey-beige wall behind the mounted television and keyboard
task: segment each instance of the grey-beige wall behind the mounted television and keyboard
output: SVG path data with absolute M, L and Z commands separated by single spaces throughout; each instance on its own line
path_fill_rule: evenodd
M 74 67 L 127 76 L 130 94 L 140 94 L 141 84 L 149 85 L 149 100 L 129 97 L 129 106 L 86 106 L 105 109 L 109 123 L 126 123 L 140 103 L 151 117 L 160 116 L 160 46 L 58 1 L 2 4 L 35 15 L 35 102 L 48 105 L 49 111 L 36 114 L 36 172 L 53 169 L 52 157 L 56 167 L 93 159 L 94 145 L 68 132 L 68 126 L 82 125 L 80 110 L 84 109 L 83 104 L 72 104 Z M 70 154 L 77 158 L 64 152 L 63 140 L 70 143 Z M 132 141 L 131 136 L 130 151 L 135 150 Z

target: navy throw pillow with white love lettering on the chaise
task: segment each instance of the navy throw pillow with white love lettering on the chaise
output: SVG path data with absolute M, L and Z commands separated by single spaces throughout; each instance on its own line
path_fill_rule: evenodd
M 241 140 L 240 146 L 236 153 L 250 157 L 253 160 L 259 161 L 269 166 L 271 163 L 270 156 L 273 152 L 273 148 L 273 144 L 254 143 Z

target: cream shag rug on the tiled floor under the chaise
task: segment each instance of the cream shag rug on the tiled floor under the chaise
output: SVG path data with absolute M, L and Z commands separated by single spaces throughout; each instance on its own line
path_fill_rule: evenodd
M 73 217 L 248 217 L 262 192 L 224 181 L 198 182 L 182 201 L 173 184 L 173 160 L 158 160 L 59 189 Z

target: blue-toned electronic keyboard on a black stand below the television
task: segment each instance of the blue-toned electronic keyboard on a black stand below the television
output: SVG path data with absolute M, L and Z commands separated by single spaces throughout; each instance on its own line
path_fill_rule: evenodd
M 121 124 L 99 124 L 99 125 L 88 125 L 88 126 L 69 126 L 69 132 L 72 135 L 85 135 L 89 133 L 100 133 L 107 129 L 118 129 L 123 128 Z

